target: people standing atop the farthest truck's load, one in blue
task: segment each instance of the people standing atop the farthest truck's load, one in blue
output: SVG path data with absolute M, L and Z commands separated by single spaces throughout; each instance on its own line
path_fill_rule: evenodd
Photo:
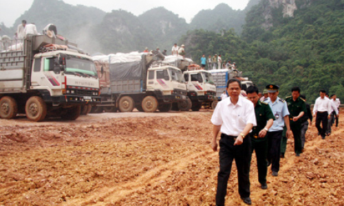
M 232 63 L 230 60 L 222 60 L 221 54 L 219 54 L 219 56 L 215 54 L 213 57 L 209 55 L 208 59 L 206 59 L 206 56 L 203 54 L 201 58 L 201 65 L 203 69 L 206 67 L 206 64 L 208 64 L 208 70 L 237 69 L 237 65 L 235 65 L 235 62 Z

